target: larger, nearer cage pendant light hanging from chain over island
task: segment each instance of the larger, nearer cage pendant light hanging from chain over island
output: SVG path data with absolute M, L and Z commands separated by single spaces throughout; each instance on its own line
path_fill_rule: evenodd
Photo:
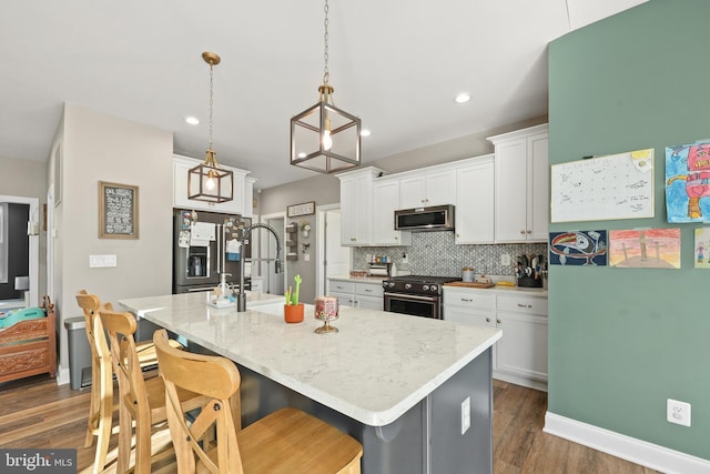
M 291 164 L 321 173 L 359 165 L 361 120 L 335 107 L 328 83 L 328 2 L 325 1 L 325 68 L 318 102 L 291 119 Z

